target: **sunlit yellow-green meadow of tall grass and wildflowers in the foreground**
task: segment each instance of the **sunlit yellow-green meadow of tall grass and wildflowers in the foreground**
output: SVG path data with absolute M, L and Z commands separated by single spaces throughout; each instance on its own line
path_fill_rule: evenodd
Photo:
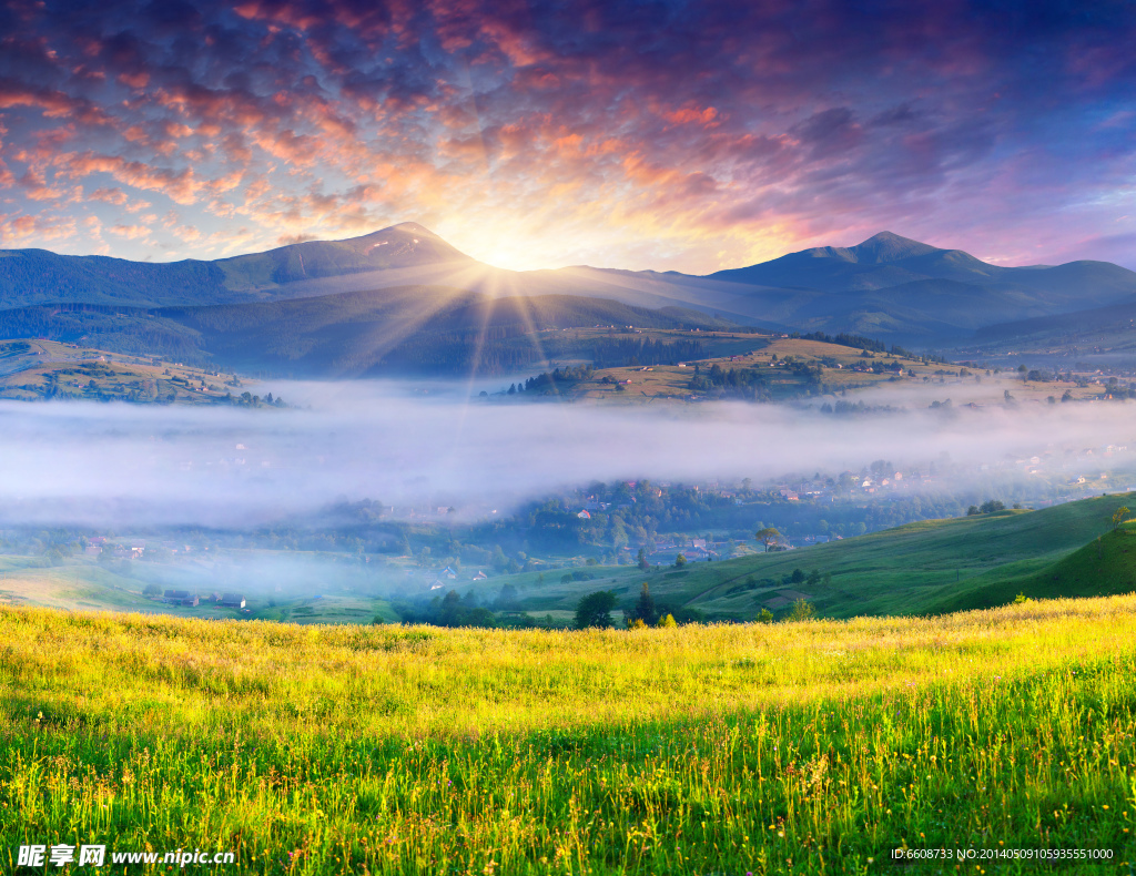
M 3 608 L 0 869 L 93 842 L 254 874 L 895 873 L 904 846 L 1128 874 L 1134 642 L 1136 594 L 633 632 Z

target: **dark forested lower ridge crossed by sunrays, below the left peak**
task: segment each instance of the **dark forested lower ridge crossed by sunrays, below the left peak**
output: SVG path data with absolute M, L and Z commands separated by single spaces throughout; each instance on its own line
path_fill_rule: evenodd
M 736 328 L 680 308 L 650 310 L 570 295 L 492 298 L 440 286 L 207 307 L 0 310 L 2 337 L 49 337 L 293 377 L 493 375 L 550 360 L 578 361 L 594 352 L 594 340 L 579 342 L 567 333 L 538 340 L 533 333 L 594 325 Z

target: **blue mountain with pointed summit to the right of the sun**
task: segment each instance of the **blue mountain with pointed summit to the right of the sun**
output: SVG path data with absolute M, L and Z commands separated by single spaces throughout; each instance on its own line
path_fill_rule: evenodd
M 687 306 L 696 298 L 767 324 L 905 344 L 957 342 L 995 323 L 1109 306 L 1136 294 L 1136 273 L 1109 262 L 1006 268 L 891 232 L 855 247 L 819 247 L 702 277 L 638 276 L 650 280 L 651 294 Z

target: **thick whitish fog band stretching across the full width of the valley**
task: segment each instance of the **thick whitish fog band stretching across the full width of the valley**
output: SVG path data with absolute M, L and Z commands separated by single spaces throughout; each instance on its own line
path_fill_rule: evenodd
M 1010 386 L 1011 382 L 1006 382 Z M 458 519 L 593 481 L 762 483 L 949 454 L 958 468 L 1050 452 L 1088 472 L 1136 448 L 1125 403 L 987 403 L 917 386 L 904 412 L 835 417 L 746 403 L 617 407 L 478 399 L 469 384 L 273 383 L 304 407 L 240 409 L 0 402 L 0 522 L 243 527 L 373 499 L 453 507 Z M 1002 385 L 986 387 L 989 401 Z M 974 393 L 971 393 L 974 394 Z M 950 411 L 927 398 L 954 395 Z M 849 397 L 851 400 L 853 397 Z M 859 398 L 859 397 L 858 397 Z M 868 398 L 896 404 L 895 394 Z M 307 407 L 310 406 L 310 407 Z M 1071 452 L 1071 456 L 1070 456 Z M 1117 451 L 1116 467 L 1127 457 Z

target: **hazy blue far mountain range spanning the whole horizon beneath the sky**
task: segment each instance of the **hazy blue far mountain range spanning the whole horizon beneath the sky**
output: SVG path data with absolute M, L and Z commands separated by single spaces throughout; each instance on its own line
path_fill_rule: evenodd
M 513 272 L 484 265 L 415 223 L 216 261 L 0 251 L 0 310 L 237 304 L 400 286 L 680 307 L 771 329 L 852 332 L 919 347 L 959 343 L 994 324 L 1120 303 L 1136 295 L 1136 273 L 1103 261 L 1006 268 L 891 232 L 707 276 L 587 266 Z

